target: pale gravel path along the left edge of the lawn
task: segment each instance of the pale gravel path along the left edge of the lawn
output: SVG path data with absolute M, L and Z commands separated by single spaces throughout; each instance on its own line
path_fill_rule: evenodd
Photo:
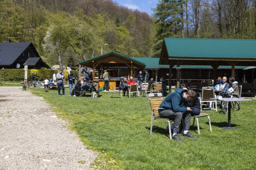
M 52 109 L 28 90 L 0 87 L 1 170 L 89 169 L 96 152 L 87 150 Z

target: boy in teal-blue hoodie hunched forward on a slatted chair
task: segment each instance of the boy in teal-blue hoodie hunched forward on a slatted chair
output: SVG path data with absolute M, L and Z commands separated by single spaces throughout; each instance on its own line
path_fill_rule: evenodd
M 192 111 L 190 107 L 187 107 L 187 101 L 194 100 L 195 92 L 193 90 L 186 89 L 176 89 L 175 92 L 167 95 L 163 102 L 160 104 L 159 115 L 161 117 L 174 119 L 174 128 L 173 128 L 173 139 L 177 141 L 183 141 L 178 135 L 179 125 L 181 119 L 184 119 L 184 132 L 183 136 L 196 138 L 188 130 L 190 128 L 190 117 Z

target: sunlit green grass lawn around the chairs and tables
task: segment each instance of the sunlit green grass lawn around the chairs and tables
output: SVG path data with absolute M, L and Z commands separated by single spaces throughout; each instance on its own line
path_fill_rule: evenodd
M 29 88 L 28 88 L 29 89 Z M 167 122 L 154 120 L 149 134 L 151 112 L 147 97 L 122 99 L 112 92 L 100 92 L 99 98 L 58 96 L 55 90 L 29 89 L 57 107 L 72 123 L 85 145 L 102 153 L 99 169 L 256 169 L 255 118 L 256 101 L 242 102 L 242 109 L 231 111 L 231 126 L 224 130 L 227 114 L 205 110 L 211 118 L 212 132 L 207 117 L 199 118 L 190 132 L 197 138 L 181 136 L 183 142 L 169 139 L 164 131 Z M 25 92 L 25 91 L 24 91 Z M 193 118 L 191 118 L 191 125 Z M 97 168 L 96 168 L 97 169 Z

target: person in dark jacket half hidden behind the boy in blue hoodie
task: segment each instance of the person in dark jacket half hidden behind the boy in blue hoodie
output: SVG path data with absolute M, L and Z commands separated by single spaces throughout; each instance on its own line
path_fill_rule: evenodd
M 184 84 L 184 83 L 181 83 L 180 86 L 179 86 L 180 89 L 185 89 L 185 90 L 192 90 L 190 87 L 187 86 L 187 84 Z M 193 90 L 194 91 L 194 90 Z M 197 97 L 197 92 L 195 92 L 195 98 L 194 100 L 190 100 L 187 102 L 187 107 L 190 107 L 190 109 L 192 109 L 190 111 L 191 113 L 191 116 L 194 116 L 194 115 L 200 115 L 200 112 L 201 112 L 201 104 L 200 104 L 200 101 Z M 193 109 L 194 108 L 194 109 Z M 173 128 L 174 128 L 174 124 L 171 126 L 171 130 L 173 131 Z M 167 126 L 166 129 L 164 129 L 166 132 L 169 132 L 169 128 Z

